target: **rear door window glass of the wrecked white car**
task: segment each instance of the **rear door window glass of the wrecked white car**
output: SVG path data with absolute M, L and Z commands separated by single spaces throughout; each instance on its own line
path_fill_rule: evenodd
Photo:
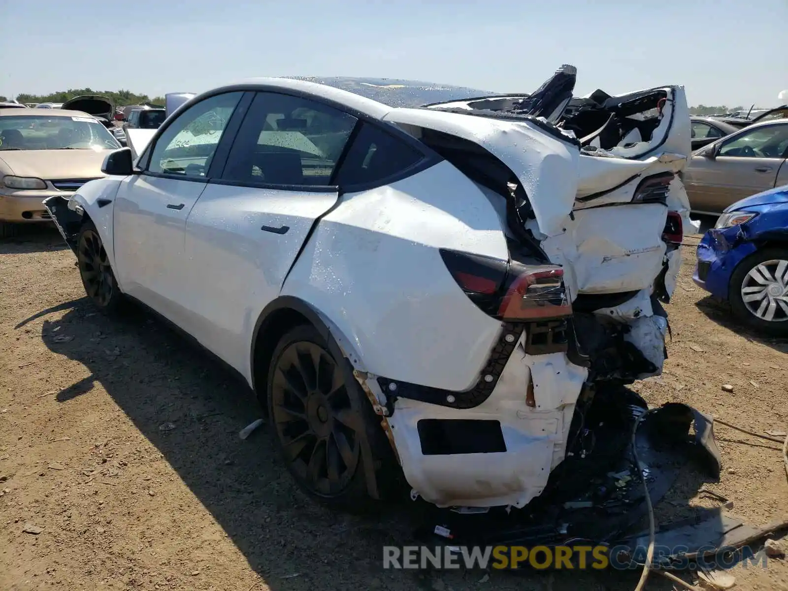
M 239 183 L 327 185 L 356 118 L 310 99 L 259 92 L 221 177 Z

